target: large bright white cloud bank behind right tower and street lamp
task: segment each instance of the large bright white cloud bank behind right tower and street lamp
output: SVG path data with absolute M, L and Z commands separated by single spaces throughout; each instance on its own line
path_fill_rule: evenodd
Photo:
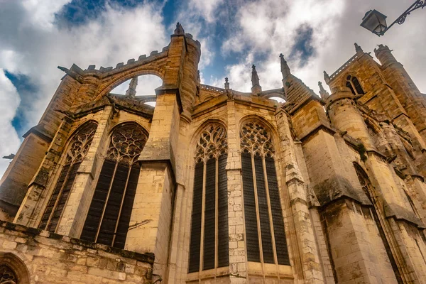
M 393 21 L 406 8 L 407 3 L 396 0 L 374 3 L 368 0 L 257 0 L 240 4 L 234 23 L 229 23 L 234 25 L 233 32 L 224 38 L 221 51 L 222 55 L 229 55 L 231 51 L 239 53 L 241 59 L 226 66 L 226 76 L 234 89 L 248 92 L 251 87 L 249 66 L 254 62 L 263 89 L 281 87 L 278 55 L 283 53 L 293 74 L 317 92 L 322 71 L 332 74 L 351 58 L 355 54 L 354 42 L 366 52 L 383 43 L 395 50 L 397 60 L 403 63 L 417 87 L 425 92 L 426 81 L 422 74 L 426 54 L 420 47 L 426 42 L 426 33 L 422 31 L 426 18 L 422 11 L 414 11 L 403 26 L 393 26 L 381 38 L 359 26 L 369 9 L 380 10 Z M 292 53 L 300 26 L 309 26 L 313 31 L 311 44 L 315 53 L 305 65 L 300 64 L 300 53 Z M 247 60 L 246 55 L 252 55 L 253 60 Z

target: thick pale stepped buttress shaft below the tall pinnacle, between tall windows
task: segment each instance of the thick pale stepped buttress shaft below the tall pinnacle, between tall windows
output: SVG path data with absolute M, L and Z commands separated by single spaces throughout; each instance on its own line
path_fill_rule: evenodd
M 177 89 L 161 88 L 157 94 L 148 141 L 139 156 L 141 173 L 125 248 L 154 253 L 154 280 L 163 280 L 167 279 L 180 106 Z

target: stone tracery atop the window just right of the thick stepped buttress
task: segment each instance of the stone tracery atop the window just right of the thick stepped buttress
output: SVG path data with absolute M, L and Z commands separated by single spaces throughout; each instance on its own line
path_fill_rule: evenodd
M 226 129 L 222 124 L 209 124 L 201 133 L 197 142 L 195 160 L 197 163 L 218 158 L 226 153 L 228 144 L 226 142 Z

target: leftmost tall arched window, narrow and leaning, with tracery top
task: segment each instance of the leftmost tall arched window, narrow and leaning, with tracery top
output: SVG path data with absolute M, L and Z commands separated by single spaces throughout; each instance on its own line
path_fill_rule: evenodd
M 72 136 L 70 146 L 68 146 L 66 152 L 67 157 L 65 158 L 65 165 L 62 168 L 58 182 L 56 182 L 55 189 L 53 190 L 48 206 L 38 226 L 39 229 L 52 232 L 56 230 L 65 204 L 67 203 L 68 196 L 70 195 L 77 170 L 87 154 L 87 151 L 89 151 L 96 129 L 96 122 L 88 121 L 80 126 L 80 129 Z

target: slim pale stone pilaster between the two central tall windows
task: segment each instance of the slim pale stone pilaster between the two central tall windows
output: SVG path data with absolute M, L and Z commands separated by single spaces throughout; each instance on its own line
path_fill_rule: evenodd
M 231 283 L 246 283 L 247 257 L 244 241 L 244 206 L 239 153 L 239 129 L 236 124 L 233 99 L 227 102 L 228 116 L 228 224 L 229 224 L 229 279 Z

